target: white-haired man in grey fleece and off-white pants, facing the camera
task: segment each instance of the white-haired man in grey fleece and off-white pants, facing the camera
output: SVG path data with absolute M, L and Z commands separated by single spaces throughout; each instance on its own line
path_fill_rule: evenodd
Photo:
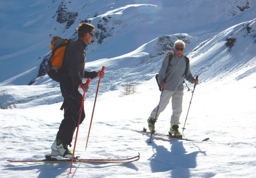
M 177 40 L 174 43 L 173 48 L 173 58 L 171 64 L 169 65 L 169 54 L 165 56 L 162 66 L 158 74 L 158 83 L 161 88 L 164 88 L 161 96 L 161 100 L 154 110 L 152 110 L 151 115 L 148 118 L 148 128 L 150 131 L 154 131 L 154 123 L 156 122 L 159 114 L 163 112 L 166 106 L 169 104 L 169 100 L 172 98 L 172 109 L 173 114 L 171 116 L 171 128 L 169 134 L 174 134 L 175 136 L 181 136 L 179 132 L 179 118 L 182 112 L 182 100 L 183 100 L 183 81 L 186 79 L 192 84 L 198 84 L 190 71 L 190 65 L 188 64 L 186 68 L 186 58 L 183 55 L 185 50 L 185 43 L 182 40 Z M 157 112 L 158 108 L 158 112 Z M 156 116 L 157 112 L 157 116 Z

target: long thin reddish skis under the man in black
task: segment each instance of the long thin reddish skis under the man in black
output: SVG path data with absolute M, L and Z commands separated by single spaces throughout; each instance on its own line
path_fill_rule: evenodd
M 73 162 L 96 162 L 96 163 L 129 163 L 134 162 L 140 159 L 140 153 L 138 156 L 132 158 L 120 158 L 120 159 L 79 159 L 78 157 L 74 158 Z M 46 154 L 45 159 L 43 160 L 7 160 L 9 162 L 71 162 L 71 159 L 58 159 L 51 158 L 51 154 Z

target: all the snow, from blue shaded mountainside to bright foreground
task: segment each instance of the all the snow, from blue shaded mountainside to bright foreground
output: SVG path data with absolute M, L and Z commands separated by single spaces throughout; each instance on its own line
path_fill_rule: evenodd
M 66 22 L 56 21 L 62 3 L 67 12 L 78 12 L 68 29 Z M 4 0 L 0 4 L 1 178 L 256 178 L 254 0 Z M 49 34 L 75 38 L 74 29 L 85 19 L 95 27 L 103 25 L 106 32 L 96 28 L 94 33 L 107 36 L 100 44 L 95 35 L 85 69 L 106 66 L 106 75 L 100 81 L 86 151 L 98 78 L 91 80 L 85 94 L 86 118 L 79 127 L 75 155 L 108 159 L 140 153 L 140 159 L 128 164 L 74 162 L 73 174 L 68 174 L 70 163 L 7 162 L 44 159 L 51 152 L 63 119 L 59 110 L 63 97 L 58 82 L 47 75 L 37 78 L 39 65 L 49 55 Z M 154 136 L 148 143 L 149 136 L 131 129 L 147 128 L 146 120 L 161 94 L 154 76 L 177 39 L 185 41 L 192 74 L 200 81 L 190 108 L 192 93 L 184 89 L 180 130 L 189 108 L 183 136 L 210 140 Z M 228 39 L 235 39 L 234 45 L 227 46 Z M 33 78 L 35 83 L 28 86 Z M 127 80 L 136 84 L 138 94 L 119 97 Z M 159 133 L 168 133 L 171 113 L 169 104 L 156 122 Z

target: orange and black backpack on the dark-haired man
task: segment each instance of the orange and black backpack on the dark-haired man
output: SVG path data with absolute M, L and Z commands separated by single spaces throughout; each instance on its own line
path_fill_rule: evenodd
M 63 59 L 65 57 L 65 52 L 67 51 L 67 48 L 71 42 L 72 40 L 61 38 L 59 36 L 54 36 L 51 40 L 52 52 L 47 65 L 47 74 L 56 82 L 60 81 L 60 72 Z

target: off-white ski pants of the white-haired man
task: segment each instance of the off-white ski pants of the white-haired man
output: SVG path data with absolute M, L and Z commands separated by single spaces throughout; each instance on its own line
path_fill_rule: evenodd
M 165 110 L 166 106 L 169 104 L 169 101 L 171 98 L 172 98 L 172 109 L 173 109 L 173 114 L 171 116 L 171 123 L 181 124 L 179 122 L 179 118 L 180 118 L 181 112 L 182 112 L 183 90 L 180 92 L 164 90 L 162 97 L 161 97 L 161 101 L 158 104 L 159 105 L 158 112 L 157 112 L 158 105 L 151 112 L 152 118 L 153 119 L 158 118 L 159 114 L 161 112 L 163 112 Z M 157 112 L 157 116 L 156 116 L 156 112 Z

